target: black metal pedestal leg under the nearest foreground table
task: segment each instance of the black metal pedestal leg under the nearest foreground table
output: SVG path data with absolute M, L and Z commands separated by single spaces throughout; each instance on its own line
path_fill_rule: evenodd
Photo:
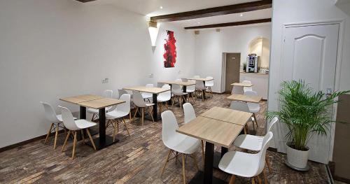
M 214 144 L 206 142 L 205 143 L 205 160 L 204 160 L 204 173 L 198 171 L 195 177 L 192 178 L 190 184 L 194 183 L 225 183 L 225 181 L 213 177 L 213 163 L 214 163 Z

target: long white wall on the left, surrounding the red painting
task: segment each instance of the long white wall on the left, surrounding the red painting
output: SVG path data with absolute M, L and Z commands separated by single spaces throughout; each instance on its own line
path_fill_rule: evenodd
M 0 1 L 0 25 L 0 148 L 47 132 L 39 101 L 78 111 L 59 97 L 156 83 L 166 73 L 175 78 L 179 69 L 193 75 L 187 68 L 194 60 L 192 34 L 162 25 L 174 29 L 178 41 L 176 67 L 162 68 L 164 32 L 153 54 L 145 17 L 111 6 Z M 102 84 L 104 78 L 109 83 Z

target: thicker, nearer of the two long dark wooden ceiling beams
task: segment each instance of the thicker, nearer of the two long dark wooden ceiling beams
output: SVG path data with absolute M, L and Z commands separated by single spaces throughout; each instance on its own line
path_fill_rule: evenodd
M 171 22 L 177 20 L 190 20 L 202 17 L 212 17 L 217 15 L 227 15 L 232 13 L 244 13 L 253 10 L 272 8 L 272 0 L 253 1 L 249 3 L 239 3 L 229 6 L 220 6 L 202 10 L 193 10 L 169 15 L 151 17 L 153 22 Z

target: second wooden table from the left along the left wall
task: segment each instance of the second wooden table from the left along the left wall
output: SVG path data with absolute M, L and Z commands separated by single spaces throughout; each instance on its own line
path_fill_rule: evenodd
M 158 116 L 158 112 L 157 112 L 157 96 L 158 94 L 162 93 L 162 92 L 167 92 L 169 90 L 165 90 L 161 87 L 146 87 L 146 86 L 135 86 L 135 87 L 124 87 L 123 90 L 132 90 L 132 91 L 138 91 L 138 92 L 148 92 L 153 94 L 153 119 L 155 121 L 160 120 L 160 116 Z M 148 120 L 152 120 L 149 117 L 146 117 Z

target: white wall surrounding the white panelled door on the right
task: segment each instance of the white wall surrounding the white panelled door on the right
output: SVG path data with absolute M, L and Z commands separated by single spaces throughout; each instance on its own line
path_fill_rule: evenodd
M 350 3 L 344 3 L 342 10 L 335 6 L 333 0 L 274 0 L 272 14 L 272 48 L 269 74 L 269 111 L 278 110 L 276 91 L 280 85 L 281 43 L 283 24 L 296 22 L 320 22 L 325 20 L 344 20 L 342 39 L 343 49 L 340 69 L 340 78 L 336 90 L 350 90 Z M 346 14 L 347 12 L 347 14 Z M 283 135 L 274 131 L 275 147 L 284 151 Z M 330 153 L 332 155 L 332 153 Z

